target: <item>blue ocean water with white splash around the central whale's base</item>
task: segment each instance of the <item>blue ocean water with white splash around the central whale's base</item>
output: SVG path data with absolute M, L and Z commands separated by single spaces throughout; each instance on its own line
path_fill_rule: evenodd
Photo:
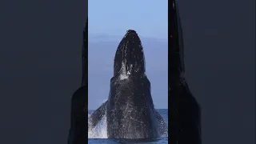
M 157 109 L 159 114 L 165 120 L 168 125 L 168 109 Z M 94 110 L 89 110 L 88 115 L 90 115 Z M 99 144 L 99 143 L 143 143 L 143 144 L 158 144 L 158 143 L 168 143 L 168 137 L 163 136 L 162 138 L 146 138 L 146 139 L 108 139 L 106 135 L 106 118 L 102 119 L 102 122 L 94 128 L 94 130 L 88 131 L 88 143 Z

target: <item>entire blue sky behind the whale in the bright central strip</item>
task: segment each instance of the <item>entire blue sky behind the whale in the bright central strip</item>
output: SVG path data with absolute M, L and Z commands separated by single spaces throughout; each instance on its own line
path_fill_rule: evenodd
M 88 1 L 89 110 L 108 98 L 115 50 L 130 29 L 136 30 L 144 46 L 154 106 L 168 107 L 167 8 L 166 0 Z

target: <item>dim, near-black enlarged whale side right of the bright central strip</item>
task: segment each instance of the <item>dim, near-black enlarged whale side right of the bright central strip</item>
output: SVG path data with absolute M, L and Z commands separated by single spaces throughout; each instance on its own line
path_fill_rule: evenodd
M 201 144 L 201 107 L 191 94 L 185 78 L 182 24 L 175 1 L 169 21 L 169 141 Z

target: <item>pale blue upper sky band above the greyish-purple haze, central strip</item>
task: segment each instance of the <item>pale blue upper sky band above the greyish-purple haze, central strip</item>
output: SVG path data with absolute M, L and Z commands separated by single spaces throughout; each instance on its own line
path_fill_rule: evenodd
M 127 28 L 143 36 L 167 38 L 167 0 L 89 0 L 89 33 L 123 35 Z

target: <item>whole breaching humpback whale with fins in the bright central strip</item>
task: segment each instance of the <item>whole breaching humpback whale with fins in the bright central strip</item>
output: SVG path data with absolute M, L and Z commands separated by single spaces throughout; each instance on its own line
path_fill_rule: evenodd
M 162 116 L 154 109 L 142 42 L 135 30 L 127 30 L 118 45 L 109 97 L 90 114 L 89 129 L 103 116 L 108 138 L 158 138 L 167 130 Z

